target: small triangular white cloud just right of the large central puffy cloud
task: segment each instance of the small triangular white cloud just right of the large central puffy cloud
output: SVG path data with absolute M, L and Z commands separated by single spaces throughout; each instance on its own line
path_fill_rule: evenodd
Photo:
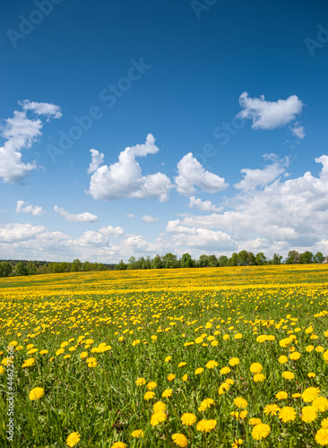
M 195 187 L 199 186 L 207 193 L 217 193 L 225 190 L 228 184 L 224 178 L 217 176 L 203 168 L 203 165 L 188 152 L 177 163 L 178 176 L 175 178 L 177 192 L 180 194 L 193 194 Z

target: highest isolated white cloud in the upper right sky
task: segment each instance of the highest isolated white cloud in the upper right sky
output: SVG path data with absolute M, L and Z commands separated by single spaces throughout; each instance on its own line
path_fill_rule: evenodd
M 239 104 L 243 110 L 237 116 L 251 119 L 253 129 L 275 129 L 289 125 L 304 106 L 296 95 L 291 95 L 288 99 L 266 101 L 263 95 L 260 98 L 250 98 L 246 91 L 240 95 Z

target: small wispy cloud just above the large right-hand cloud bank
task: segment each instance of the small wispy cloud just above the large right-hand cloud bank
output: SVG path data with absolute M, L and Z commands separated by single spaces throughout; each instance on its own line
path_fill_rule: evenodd
M 262 169 L 241 169 L 244 175 L 243 179 L 234 185 L 238 190 L 254 190 L 257 186 L 271 184 L 274 179 L 286 172 L 286 167 L 289 165 L 289 159 L 279 160 L 275 154 L 264 154 L 264 159 L 272 161 L 270 165 L 266 165 Z

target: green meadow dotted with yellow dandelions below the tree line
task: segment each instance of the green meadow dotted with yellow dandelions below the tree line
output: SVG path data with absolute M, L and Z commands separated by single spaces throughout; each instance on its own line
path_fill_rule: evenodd
M 328 446 L 327 299 L 325 264 L 2 279 L 0 446 Z

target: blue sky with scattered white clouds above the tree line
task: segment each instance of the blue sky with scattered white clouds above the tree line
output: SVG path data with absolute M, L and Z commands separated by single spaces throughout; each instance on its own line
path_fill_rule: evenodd
M 328 254 L 326 4 L 0 8 L 1 258 Z

